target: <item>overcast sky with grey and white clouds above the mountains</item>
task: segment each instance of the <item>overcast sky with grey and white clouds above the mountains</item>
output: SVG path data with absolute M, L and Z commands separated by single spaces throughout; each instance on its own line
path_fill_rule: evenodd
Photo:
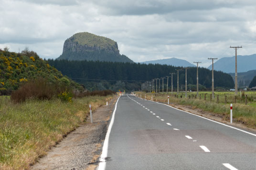
M 90 32 L 135 62 L 256 53 L 255 0 L 0 0 L 0 48 L 57 58 L 64 40 Z

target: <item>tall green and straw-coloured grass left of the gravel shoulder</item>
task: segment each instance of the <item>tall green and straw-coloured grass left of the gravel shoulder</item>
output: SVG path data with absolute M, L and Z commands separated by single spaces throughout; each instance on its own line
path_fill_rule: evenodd
M 64 135 L 82 123 L 92 110 L 113 96 L 88 96 L 73 102 L 26 100 L 14 104 L 0 97 L 0 169 L 29 169 Z

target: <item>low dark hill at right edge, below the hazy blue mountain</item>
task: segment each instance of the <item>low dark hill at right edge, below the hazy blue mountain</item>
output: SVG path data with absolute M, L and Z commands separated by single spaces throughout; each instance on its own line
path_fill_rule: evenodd
M 214 69 L 215 70 L 215 69 Z M 233 80 L 235 80 L 235 73 L 229 73 Z M 238 72 L 237 73 L 237 82 L 239 88 L 248 87 L 251 80 L 256 76 L 256 70 L 250 70 L 247 72 Z

